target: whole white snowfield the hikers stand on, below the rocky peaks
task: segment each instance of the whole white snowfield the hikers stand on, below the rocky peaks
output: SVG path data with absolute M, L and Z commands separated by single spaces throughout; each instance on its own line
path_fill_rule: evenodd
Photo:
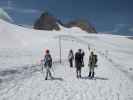
M 61 29 L 38 31 L 0 20 L 0 100 L 133 100 L 133 40 Z M 93 80 L 87 77 L 88 47 L 98 55 Z M 40 66 L 46 48 L 53 57 L 54 76 L 47 81 Z M 67 61 L 69 49 L 78 48 L 85 51 L 81 79 Z

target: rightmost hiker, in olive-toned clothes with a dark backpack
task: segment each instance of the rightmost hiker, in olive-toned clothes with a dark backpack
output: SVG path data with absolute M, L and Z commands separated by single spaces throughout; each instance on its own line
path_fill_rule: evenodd
M 97 67 L 97 55 L 94 54 L 93 51 L 90 54 L 88 66 L 90 67 L 88 77 L 94 78 L 94 75 L 95 75 L 94 69 L 95 67 Z

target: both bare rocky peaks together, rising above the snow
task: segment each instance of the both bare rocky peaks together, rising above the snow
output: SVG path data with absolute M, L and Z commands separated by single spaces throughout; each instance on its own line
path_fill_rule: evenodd
M 87 21 L 78 19 L 70 21 L 67 24 L 62 23 L 59 19 L 51 15 L 49 12 L 44 12 L 39 19 L 34 23 L 34 29 L 38 30 L 60 30 L 59 24 L 66 27 L 79 27 L 88 33 L 97 33 L 96 29 Z

